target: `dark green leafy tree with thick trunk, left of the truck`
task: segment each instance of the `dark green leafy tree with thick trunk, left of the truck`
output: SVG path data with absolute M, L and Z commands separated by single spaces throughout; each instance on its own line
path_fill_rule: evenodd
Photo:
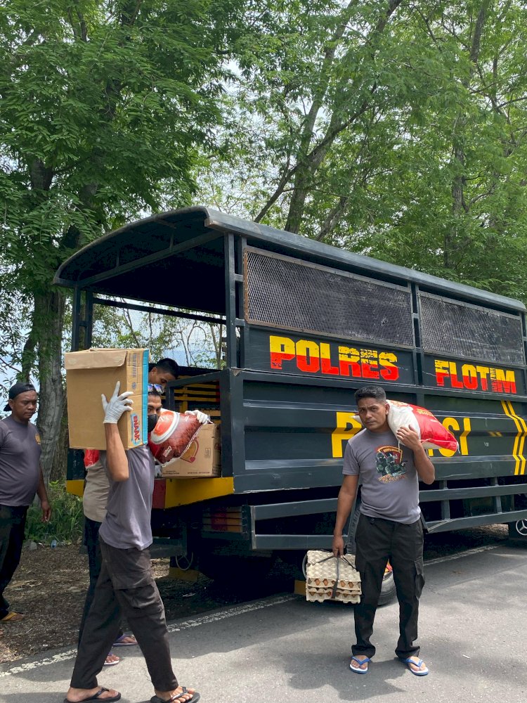
M 220 117 L 238 8 L 232 0 L 0 8 L 1 261 L 32 308 L 20 375 L 38 373 L 46 476 L 64 405 L 65 293 L 51 286 L 53 273 L 105 230 L 190 201 L 197 145 L 212 145 Z

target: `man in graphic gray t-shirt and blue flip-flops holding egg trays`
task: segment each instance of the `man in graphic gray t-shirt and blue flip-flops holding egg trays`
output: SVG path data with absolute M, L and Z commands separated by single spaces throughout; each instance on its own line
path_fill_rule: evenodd
M 352 647 L 349 666 L 356 673 L 367 673 L 375 654 L 370 637 L 384 569 L 390 560 L 400 605 L 396 654 L 415 676 L 426 676 L 428 669 L 419 659 L 419 646 L 415 643 L 419 596 L 424 585 L 419 480 L 433 483 L 434 465 L 415 430 L 401 427 L 396 434 L 391 432 L 384 389 L 365 386 L 355 398 L 365 429 L 349 440 L 344 453 L 344 480 L 332 545 L 335 556 L 344 554 L 342 531 L 360 482 L 355 541 L 362 595 L 353 611 L 357 642 Z

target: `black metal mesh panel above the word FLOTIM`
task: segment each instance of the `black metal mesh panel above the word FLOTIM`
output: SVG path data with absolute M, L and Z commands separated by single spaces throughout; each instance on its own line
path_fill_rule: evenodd
M 419 298 L 424 351 L 500 364 L 523 364 L 519 317 L 430 293 L 420 293 Z

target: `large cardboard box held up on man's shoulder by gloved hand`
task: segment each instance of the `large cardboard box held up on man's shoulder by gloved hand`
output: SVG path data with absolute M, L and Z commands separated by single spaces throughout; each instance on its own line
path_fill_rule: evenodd
M 70 447 L 106 449 L 102 393 L 131 391 L 133 410 L 117 423 L 124 449 L 146 444 L 148 349 L 88 349 L 64 355 Z

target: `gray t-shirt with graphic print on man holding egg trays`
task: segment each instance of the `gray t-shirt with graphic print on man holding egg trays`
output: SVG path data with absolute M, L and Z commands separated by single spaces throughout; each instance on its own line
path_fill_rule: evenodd
M 414 454 L 393 432 L 361 430 L 344 452 L 344 475 L 359 476 L 360 512 L 411 524 L 419 520 L 419 479 Z

